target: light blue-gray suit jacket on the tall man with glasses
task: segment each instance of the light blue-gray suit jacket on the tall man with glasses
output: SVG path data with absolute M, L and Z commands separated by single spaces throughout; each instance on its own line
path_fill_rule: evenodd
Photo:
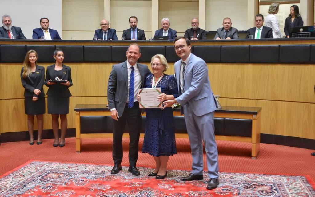
M 179 86 L 181 60 L 175 62 L 175 76 Z M 189 104 L 197 116 L 202 116 L 216 110 L 215 98 L 210 87 L 207 64 L 203 59 L 191 54 L 184 73 L 183 94 L 176 98 L 180 105 Z M 179 91 L 180 92 L 180 91 Z M 180 109 L 183 114 L 183 108 Z

